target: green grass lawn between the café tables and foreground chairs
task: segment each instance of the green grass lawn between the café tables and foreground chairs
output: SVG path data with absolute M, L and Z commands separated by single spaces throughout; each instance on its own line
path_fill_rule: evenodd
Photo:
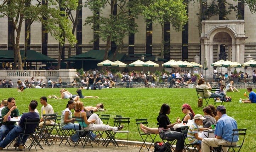
M 68 88 L 69 92 L 76 94 L 76 88 Z M 232 102 L 224 103 L 227 109 L 227 115 L 237 120 L 238 128 L 247 128 L 247 135 L 245 139 L 242 152 L 256 151 L 256 127 L 255 127 L 255 109 L 256 104 L 240 104 L 240 98 L 244 98 L 246 89 L 239 89 L 240 93 L 228 92 L 227 95 L 232 97 Z M 24 92 L 17 92 L 14 88 L 1 88 L 0 98 L 7 99 L 14 97 L 16 105 L 20 113 L 28 111 L 28 105 L 31 100 L 39 102 L 38 110 L 41 111 L 40 97 L 48 95 L 60 96 L 59 89 L 25 89 Z M 249 94 L 247 92 L 247 94 Z M 81 99 L 85 106 L 95 106 L 97 103 L 103 103 L 104 112 L 97 112 L 97 114 L 110 115 L 110 125 L 113 124 L 113 117 L 115 115 L 122 115 L 123 117 L 130 117 L 130 133 L 129 140 L 142 141 L 138 134 L 135 123 L 136 118 L 148 118 L 149 127 L 157 127 L 157 116 L 160 107 L 163 103 L 171 106 L 171 113 L 169 115 L 170 121 L 175 122 L 176 118 L 184 117 L 181 112 L 181 106 L 184 103 L 189 104 L 194 113 L 203 114 L 202 107 L 197 107 L 197 94 L 195 89 L 187 88 L 114 88 L 102 90 L 83 90 L 84 96 L 98 96 L 98 99 Z M 51 104 L 55 112 L 61 112 L 66 108 L 68 99 L 48 99 L 47 103 Z M 210 100 L 210 104 L 214 104 Z M 217 103 L 217 105 L 220 103 Z M 123 139 L 125 135 L 117 135 L 117 138 Z M 160 141 L 159 137 L 155 141 Z

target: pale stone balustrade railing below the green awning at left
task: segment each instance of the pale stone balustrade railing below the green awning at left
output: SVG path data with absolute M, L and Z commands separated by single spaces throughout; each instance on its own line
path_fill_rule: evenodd
M 34 80 L 37 78 L 40 80 L 41 78 L 44 82 L 47 82 L 49 78 L 52 81 L 58 81 L 59 78 L 62 79 L 62 82 L 72 82 L 75 77 L 75 69 L 59 69 L 59 70 L 0 70 L 0 79 L 6 80 L 8 82 L 9 79 L 17 84 L 18 79 L 24 81 L 26 78 L 30 81 L 32 77 Z

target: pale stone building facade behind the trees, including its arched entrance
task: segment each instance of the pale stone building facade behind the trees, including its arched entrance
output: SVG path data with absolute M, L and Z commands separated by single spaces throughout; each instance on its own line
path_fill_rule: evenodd
M 238 5 L 238 1 L 227 0 L 234 5 Z M 207 5 L 210 0 L 207 0 Z M 176 32 L 170 27 L 170 53 L 169 58 L 174 60 L 187 60 L 192 62 L 195 55 L 200 57 L 200 63 L 203 64 L 204 58 L 207 59 L 209 71 L 212 67 L 210 64 L 219 60 L 219 55 L 224 47 L 224 53 L 228 60 L 243 63 L 244 57 L 251 55 L 256 57 L 256 14 L 251 13 L 249 7 L 244 5 L 244 18 L 239 19 L 234 12 L 226 17 L 229 20 L 219 20 L 218 16 L 211 17 L 208 21 L 202 21 L 202 31 L 198 31 L 198 13 L 199 5 L 197 3 L 188 4 L 188 26 L 186 33 L 184 31 Z M 107 16 L 110 8 L 104 8 L 103 16 Z M 118 10 L 117 10 L 118 11 Z M 82 9 L 81 21 L 82 24 L 87 16 L 91 16 L 92 12 L 88 8 Z M 138 24 L 138 33 L 134 35 L 134 54 L 146 53 L 147 46 L 147 26 L 142 16 L 135 19 Z M 20 47 L 24 48 L 25 41 L 25 26 L 22 27 L 20 39 Z M 93 29 L 89 25 L 82 27 L 81 52 L 94 49 L 90 41 L 93 39 Z M 8 18 L 0 18 L 0 49 L 8 49 Z M 152 25 L 152 55 L 159 55 L 161 43 L 161 26 L 157 23 Z M 42 51 L 42 31 L 41 23 L 33 23 L 31 27 L 30 49 L 41 52 L 49 57 L 58 58 L 58 42 L 50 34 L 47 36 L 47 50 Z M 183 43 L 184 37 L 187 37 L 187 43 Z M 124 39 L 123 53 L 129 54 L 129 37 Z M 99 49 L 105 48 L 105 42 L 99 40 Z M 185 49 L 184 49 L 185 48 Z M 72 55 L 78 54 L 76 48 L 72 49 Z M 184 55 L 185 54 L 185 55 Z M 66 44 L 65 58 L 68 55 L 68 45 Z M 185 57 L 184 57 L 185 56 Z

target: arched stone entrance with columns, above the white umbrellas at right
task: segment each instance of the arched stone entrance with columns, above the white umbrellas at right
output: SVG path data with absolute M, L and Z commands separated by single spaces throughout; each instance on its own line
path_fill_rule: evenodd
M 227 60 L 233 62 L 244 63 L 244 41 L 247 39 L 244 20 L 212 20 L 202 21 L 201 24 L 201 61 L 206 58 L 209 68 L 206 75 L 211 75 L 211 64 L 218 61 L 220 56 L 226 56 Z

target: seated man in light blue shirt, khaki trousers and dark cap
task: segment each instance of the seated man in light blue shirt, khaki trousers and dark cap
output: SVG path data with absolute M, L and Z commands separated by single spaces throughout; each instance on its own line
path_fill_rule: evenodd
M 229 117 L 226 114 L 226 108 L 224 106 L 218 106 L 217 114 L 220 117 L 215 128 L 215 138 L 204 138 L 202 140 L 201 148 L 202 152 L 210 152 L 210 147 L 236 145 L 238 136 L 234 136 L 232 141 L 233 129 L 237 129 L 237 121 L 234 118 Z M 223 151 L 226 152 L 227 148 L 222 147 Z

